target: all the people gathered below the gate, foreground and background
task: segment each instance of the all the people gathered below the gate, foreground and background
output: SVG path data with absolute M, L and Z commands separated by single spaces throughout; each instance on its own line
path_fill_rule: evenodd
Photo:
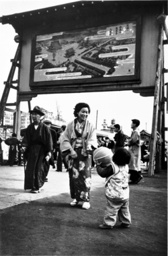
M 71 201 L 74 207 L 80 202 L 82 209 L 88 210 L 91 193 L 91 169 L 95 166 L 97 173 L 106 178 L 106 212 L 103 224 L 99 228 L 113 228 L 118 216 L 122 226 L 128 228 L 131 224 L 129 212 L 129 183 L 138 184 L 143 178 L 140 172 L 140 121 L 132 119 L 131 137 L 124 135 L 119 124 L 114 125 L 114 140 L 109 137 L 98 137 L 94 125 L 87 119 L 91 112 L 87 103 L 79 102 L 74 108 L 74 119 L 67 125 L 62 125 L 56 133 L 51 129 L 51 121 L 42 121 L 42 108 L 35 106 L 30 110 L 32 121 L 22 139 L 12 137 L 15 145 L 10 146 L 9 164 L 13 165 L 16 146 L 22 148 L 26 159 L 24 189 L 31 193 L 40 193 L 44 182 L 48 181 L 50 166 L 62 172 L 62 163 L 69 172 Z M 101 166 L 93 160 L 93 152 L 100 147 L 112 151 L 112 161 L 107 166 Z M 58 152 L 57 151 L 58 148 Z M 128 149 L 127 149 L 128 148 Z M 129 181 L 130 176 L 130 182 Z

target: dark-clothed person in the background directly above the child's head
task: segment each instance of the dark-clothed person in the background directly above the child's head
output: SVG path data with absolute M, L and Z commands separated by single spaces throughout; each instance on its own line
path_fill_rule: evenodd
M 123 131 L 120 129 L 120 125 L 118 124 L 114 125 L 114 132 L 116 133 L 114 135 L 114 141 L 116 141 L 114 151 L 116 151 L 118 148 L 124 148 L 126 135 L 124 135 Z

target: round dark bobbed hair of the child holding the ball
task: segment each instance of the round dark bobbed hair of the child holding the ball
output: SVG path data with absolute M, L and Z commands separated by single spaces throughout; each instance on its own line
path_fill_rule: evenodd
M 126 148 L 118 148 L 113 156 L 113 162 L 117 165 L 126 165 L 130 162 L 130 152 Z

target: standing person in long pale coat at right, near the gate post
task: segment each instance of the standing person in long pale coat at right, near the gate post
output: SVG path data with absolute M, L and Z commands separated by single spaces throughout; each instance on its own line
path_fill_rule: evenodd
M 140 125 L 140 121 L 138 119 L 132 119 L 131 128 L 132 134 L 130 139 L 128 139 L 128 151 L 130 152 L 130 164 L 129 173 L 130 173 L 130 183 L 138 184 L 140 180 L 143 178 L 140 175 L 140 158 L 141 158 L 141 150 L 140 150 L 140 131 L 138 130 L 138 126 Z

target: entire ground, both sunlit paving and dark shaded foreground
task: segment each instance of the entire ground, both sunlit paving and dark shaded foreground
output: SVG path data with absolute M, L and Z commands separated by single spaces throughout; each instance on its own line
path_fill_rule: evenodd
M 69 203 L 68 173 L 51 169 L 42 192 L 24 191 L 24 167 L 0 166 L 0 255 L 167 255 L 167 172 L 130 185 L 130 229 L 100 230 L 104 179 L 92 173 L 91 208 Z

